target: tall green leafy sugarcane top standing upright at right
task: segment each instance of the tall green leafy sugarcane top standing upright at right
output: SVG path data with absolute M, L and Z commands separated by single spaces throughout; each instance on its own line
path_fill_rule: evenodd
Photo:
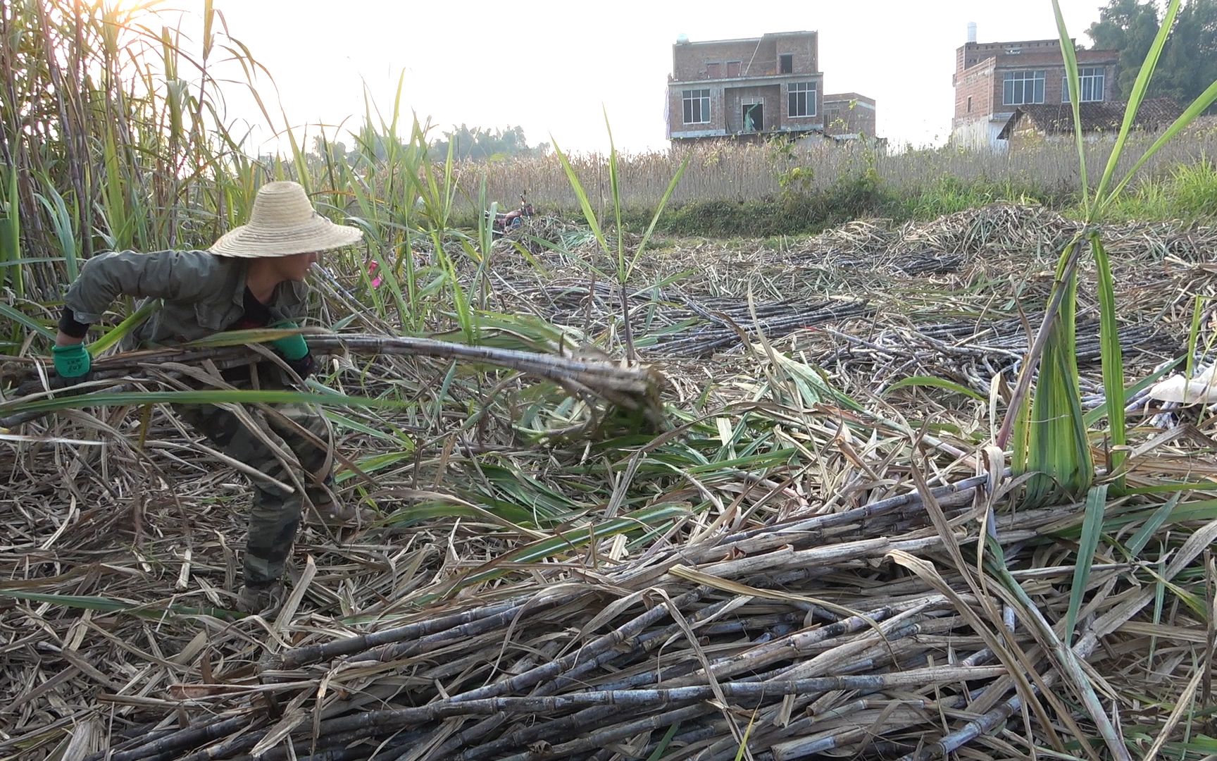
M 1110 447 L 1106 480 L 1114 494 L 1120 494 L 1125 488 L 1123 464 L 1127 458 L 1125 451 L 1127 433 L 1123 408 L 1123 358 L 1120 351 L 1111 264 L 1103 244 L 1101 224 L 1112 203 L 1137 170 L 1217 100 L 1217 82 L 1215 82 L 1146 149 L 1118 183 L 1112 183 L 1133 118 L 1149 90 L 1150 79 L 1167 35 L 1174 24 L 1179 5 L 1180 0 L 1171 0 L 1166 10 L 1157 37 L 1142 63 L 1128 97 L 1123 123 L 1120 127 L 1111 155 L 1107 157 L 1103 178 L 1092 195 L 1086 168 L 1086 144 L 1079 112 L 1081 86 L 1077 55 L 1065 28 L 1059 0 L 1053 0 L 1069 79 L 1073 134 L 1081 164 L 1083 225 L 1061 252 L 1043 324 L 1031 345 L 1026 362 L 1022 364 L 1009 410 L 997 437 L 997 444 L 1005 448 L 1013 433 L 1014 472 L 1030 474 L 1026 499 L 1031 503 L 1079 498 L 1094 485 L 1095 480 L 1089 427 L 1081 404 L 1075 326 L 1077 268 L 1087 251 L 1094 256 L 1098 274 L 1099 335 L 1107 421 L 1104 435 Z M 1037 369 L 1039 376 L 1032 392 L 1032 375 Z

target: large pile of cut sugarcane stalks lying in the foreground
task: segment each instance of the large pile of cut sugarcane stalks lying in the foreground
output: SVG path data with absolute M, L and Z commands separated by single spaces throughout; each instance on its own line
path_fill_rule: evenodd
M 963 504 L 943 520 L 964 517 L 991 481 L 940 487 L 933 504 Z M 1036 567 L 1036 537 L 1072 509 L 998 520 L 1008 566 L 1034 580 L 1042 610 L 1067 601 L 1072 569 Z M 291 647 L 262 659 L 260 687 L 253 676 L 219 679 L 213 695 L 181 704 L 187 727 L 168 714 L 108 757 L 336 761 L 376 748 L 383 759 L 426 749 L 461 761 L 606 760 L 662 745 L 664 759 L 728 760 L 748 731 L 755 759 L 930 759 L 976 743 L 1021 701 L 1064 709 L 1041 692 L 1067 679 L 1037 632 L 952 559 L 977 524 L 944 537 L 931 522 L 914 492 L 481 606 L 433 606 L 382 631 L 288 629 Z M 1099 642 L 1110 645 L 1152 599 L 1114 594 L 1110 577 L 1092 580 L 1082 658 L 1112 658 Z

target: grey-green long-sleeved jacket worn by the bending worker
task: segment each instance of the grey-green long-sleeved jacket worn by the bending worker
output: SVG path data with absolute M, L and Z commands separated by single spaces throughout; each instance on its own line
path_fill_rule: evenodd
M 247 267 L 248 259 L 208 251 L 112 251 L 84 263 L 65 303 L 77 321 L 91 324 L 119 296 L 161 298 L 161 309 L 133 331 L 128 346 L 194 341 L 225 330 L 245 313 Z M 307 293 L 302 282 L 280 282 L 267 304 L 274 321 L 298 323 Z

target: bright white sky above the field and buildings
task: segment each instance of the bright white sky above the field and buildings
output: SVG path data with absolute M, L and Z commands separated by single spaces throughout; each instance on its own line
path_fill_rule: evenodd
M 1070 33 L 1087 46 L 1086 28 L 1104 2 L 1060 0 Z M 175 7 L 197 13 L 202 1 Z M 570 151 L 607 150 L 601 106 L 618 150 L 667 147 L 664 94 L 682 33 L 697 41 L 818 30 L 825 91 L 876 99 L 880 136 L 916 146 L 942 144 L 949 133 L 950 77 L 968 22 L 976 22 L 981 43 L 1056 37 L 1050 0 L 214 0 L 214 7 L 275 77 L 296 123 L 347 119 L 354 128 L 364 84 L 378 107 L 392 110 L 404 72 L 406 111 L 441 129 L 518 124 L 529 144 L 553 135 Z M 275 108 L 274 91 L 260 91 Z M 229 116 L 257 112 L 232 91 Z

